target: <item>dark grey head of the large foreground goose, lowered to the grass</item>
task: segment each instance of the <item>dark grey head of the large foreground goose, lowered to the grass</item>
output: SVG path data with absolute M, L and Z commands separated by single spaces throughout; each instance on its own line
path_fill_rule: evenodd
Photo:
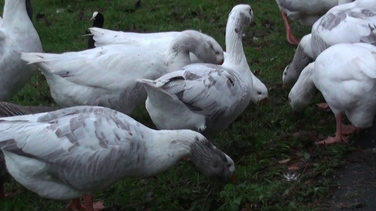
M 191 143 L 189 158 L 209 178 L 228 180 L 235 171 L 233 160 L 201 134 Z

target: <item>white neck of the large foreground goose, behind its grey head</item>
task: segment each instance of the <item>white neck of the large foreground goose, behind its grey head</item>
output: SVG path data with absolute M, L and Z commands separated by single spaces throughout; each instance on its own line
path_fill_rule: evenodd
M 181 158 L 191 154 L 191 143 L 197 136 L 202 135 L 191 130 L 153 131 L 150 141 L 146 143 L 148 151 L 144 166 L 136 171 L 141 175 L 133 176 L 153 176 L 169 169 Z

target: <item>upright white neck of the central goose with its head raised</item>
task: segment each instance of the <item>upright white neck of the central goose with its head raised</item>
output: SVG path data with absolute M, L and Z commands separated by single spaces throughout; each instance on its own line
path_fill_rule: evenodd
M 226 25 L 226 60 L 234 65 L 240 65 L 246 60 L 243 50 L 243 26 L 237 17 L 238 14 L 231 14 Z

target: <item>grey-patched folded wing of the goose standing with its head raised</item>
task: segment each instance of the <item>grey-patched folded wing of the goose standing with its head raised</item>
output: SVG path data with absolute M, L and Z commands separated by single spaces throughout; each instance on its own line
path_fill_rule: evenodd
M 230 112 L 247 95 L 244 79 L 236 72 L 212 64 L 192 64 L 157 79 L 164 92 L 175 95 L 188 109 L 207 116 Z

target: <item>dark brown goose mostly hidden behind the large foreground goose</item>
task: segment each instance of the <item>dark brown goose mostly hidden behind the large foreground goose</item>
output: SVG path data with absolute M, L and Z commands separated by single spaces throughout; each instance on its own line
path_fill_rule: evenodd
M 56 110 L 53 107 L 42 107 L 42 106 L 22 106 L 13 104 L 10 102 L 0 102 L 0 117 L 8 116 L 18 116 L 18 115 L 28 115 L 34 113 L 42 113 Z M 4 155 L 0 150 L 0 199 L 6 196 L 11 196 L 14 193 L 5 194 L 4 183 L 8 181 L 9 175 L 5 167 Z

